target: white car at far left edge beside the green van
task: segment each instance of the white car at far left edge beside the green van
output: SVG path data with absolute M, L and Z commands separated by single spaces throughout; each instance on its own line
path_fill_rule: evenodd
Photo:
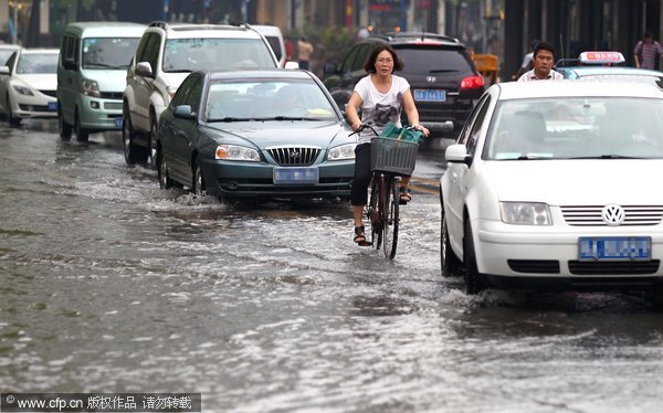
M 0 66 L 0 112 L 10 125 L 57 117 L 57 49 L 21 49 Z

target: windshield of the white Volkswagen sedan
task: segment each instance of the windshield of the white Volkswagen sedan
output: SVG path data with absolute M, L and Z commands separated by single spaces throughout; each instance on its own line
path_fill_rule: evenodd
M 663 159 L 663 99 L 565 97 L 502 102 L 483 158 Z

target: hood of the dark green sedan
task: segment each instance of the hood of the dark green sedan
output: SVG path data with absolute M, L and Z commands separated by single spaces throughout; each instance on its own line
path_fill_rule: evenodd
M 251 141 L 261 149 L 284 145 L 312 145 L 327 148 L 356 141 L 354 137 L 348 138 L 351 130 L 346 129 L 339 121 L 238 121 L 208 124 L 207 127 L 221 133 L 218 135 L 221 139 L 232 136 Z

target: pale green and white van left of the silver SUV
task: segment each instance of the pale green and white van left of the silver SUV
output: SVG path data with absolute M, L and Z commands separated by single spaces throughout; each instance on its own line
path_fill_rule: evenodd
M 60 137 L 122 129 L 127 68 L 146 27 L 124 22 L 67 24 L 57 62 Z

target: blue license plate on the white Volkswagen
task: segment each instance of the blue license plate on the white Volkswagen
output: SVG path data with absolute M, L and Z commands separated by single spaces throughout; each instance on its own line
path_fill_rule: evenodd
M 650 236 L 599 236 L 578 240 L 580 261 L 634 261 L 651 257 Z

